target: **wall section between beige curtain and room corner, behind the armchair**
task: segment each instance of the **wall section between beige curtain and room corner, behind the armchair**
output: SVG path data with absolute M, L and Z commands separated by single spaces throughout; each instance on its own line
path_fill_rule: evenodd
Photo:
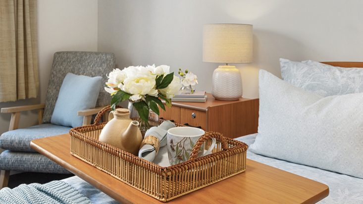
M 55 51 L 97 51 L 97 0 L 38 0 L 40 96 L 3 102 L 1 107 L 44 102 Z M 10 114 L 0 114 L 0 134 L 7 131 Z M 37 123 L 37 112 L 21 115 L 20 127 Z

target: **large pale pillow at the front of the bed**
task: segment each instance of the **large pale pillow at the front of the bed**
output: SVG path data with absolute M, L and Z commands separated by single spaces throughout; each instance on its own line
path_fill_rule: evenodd
M 363 93 L 323 98 L 260 70 L 251 151 L 363 178 Z

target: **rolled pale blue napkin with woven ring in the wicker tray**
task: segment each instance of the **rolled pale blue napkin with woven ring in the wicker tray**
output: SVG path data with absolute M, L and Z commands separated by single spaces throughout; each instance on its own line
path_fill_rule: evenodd
M 166 145 L 166 134 L 175 124 L 165 120 L 158 127 L 151 127 L 146 133 L 139 150 L 139 157 L 148 161 L 154 161 L 160 147 Z

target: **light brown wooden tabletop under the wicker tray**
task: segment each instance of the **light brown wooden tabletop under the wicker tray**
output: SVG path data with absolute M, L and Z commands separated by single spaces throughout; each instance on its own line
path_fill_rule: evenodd
M 30 146 L 121 203 L 160 204 L 70 154 L 68 134 L 33 140 Z M 247 170 L 226 180 L 169 201 L 170 204 L 316 203 L 329 194 L 328 186 L 247 159 Z

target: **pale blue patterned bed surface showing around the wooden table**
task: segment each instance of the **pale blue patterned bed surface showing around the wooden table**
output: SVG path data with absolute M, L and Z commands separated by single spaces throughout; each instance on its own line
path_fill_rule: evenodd
M 255 142 L 256 136 L 257 134 L 253 134 L 237 138 L 236 140 L 251 145 Z M 363 204 L 363 179 L 274 159 L 252 153 L 251 151 L 247 152 L 247 158 L 328 185 L 329 196 L 318 204 Z M 63 181 L 73 186 L 94 204 L 117 204 L 115 200 L 77 176 L 64 179 Z

